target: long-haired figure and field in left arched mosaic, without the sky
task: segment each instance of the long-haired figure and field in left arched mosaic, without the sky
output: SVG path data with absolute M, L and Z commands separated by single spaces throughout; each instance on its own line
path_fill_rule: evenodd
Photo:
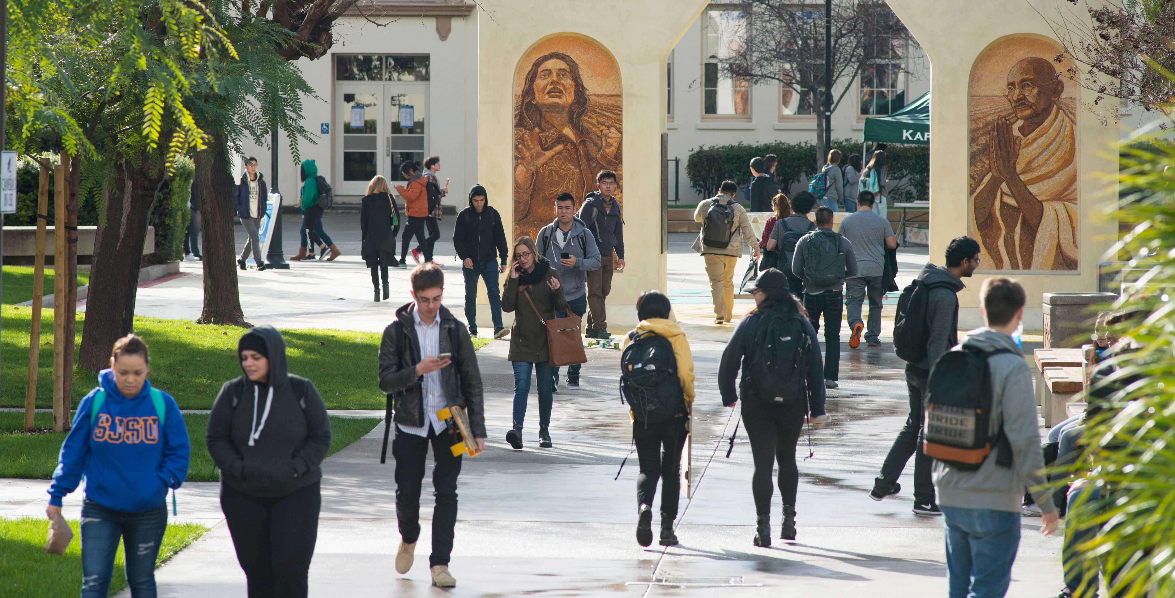
M 591 95 L 571 55 L 550 52 L 530 65 L 515 99 L 516 236 L 551 221 L 556 195 L 583 201 L 597 173 L 619 172 L 620 114 L 618 96 Z

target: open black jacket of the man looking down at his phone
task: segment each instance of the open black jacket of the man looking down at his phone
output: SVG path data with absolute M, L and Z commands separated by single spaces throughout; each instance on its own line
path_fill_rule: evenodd
M 380 343 L 380 390 L 394 402 L 397 424 L 421 426 L 424 418 L 422 395 L 424 377 L 416 375 L 421 362 L 421 343 L 416 337 L 416 303 L 405 303 L 396 310 L 396 320 L 383 329 Z M 451 352 L 452 364 L 441 370 L 444 395 L 449 405 L 464 406 L 475 438 L 485 438 L 485 409 L 482 404 L 482 372 L 477 367 L 474 342 L 465 324 L 458 322 L 444 307 L 441 318 L 439 352 Z

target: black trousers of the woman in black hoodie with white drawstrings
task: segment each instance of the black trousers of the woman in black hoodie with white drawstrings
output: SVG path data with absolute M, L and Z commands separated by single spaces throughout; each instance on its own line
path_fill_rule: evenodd
M 318 538 L 318 482 L 286 496 L 264 498 L 221 484 L 221 510 L 249 598 L 307 594 L 307 573 Z

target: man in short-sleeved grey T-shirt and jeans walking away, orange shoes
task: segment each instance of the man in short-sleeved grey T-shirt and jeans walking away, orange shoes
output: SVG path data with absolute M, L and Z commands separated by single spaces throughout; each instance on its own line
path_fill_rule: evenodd
M 861 307 L 865 297 L 870 298 L 870 329 L 865 332 L 865 343 L 870 347 L 881 344 L 881 303 L 885 300 L 885 250 L 898 247 L 889 221 L 872 210 L 873 194 L 861 192 L 853 202 L 861 207 L 845 216 L 840 222 L 840 234 L 853 244 L 857 256 L 857 276 L 845 280 L 845 294 L 848 309 L 848 347 L 861 345 L 861 331 L 865 322 L 861 320 Z

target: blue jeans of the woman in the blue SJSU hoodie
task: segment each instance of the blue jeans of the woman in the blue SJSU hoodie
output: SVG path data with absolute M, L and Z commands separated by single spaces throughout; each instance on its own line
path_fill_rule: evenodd
M 114 553 L 122 539 L 130 596 L 155 598 L 155 557 L 164 530 L 166 504 L 125 513 L 87 498 L 81 508 L 81 597 L 106 598 L 114 573 Z

